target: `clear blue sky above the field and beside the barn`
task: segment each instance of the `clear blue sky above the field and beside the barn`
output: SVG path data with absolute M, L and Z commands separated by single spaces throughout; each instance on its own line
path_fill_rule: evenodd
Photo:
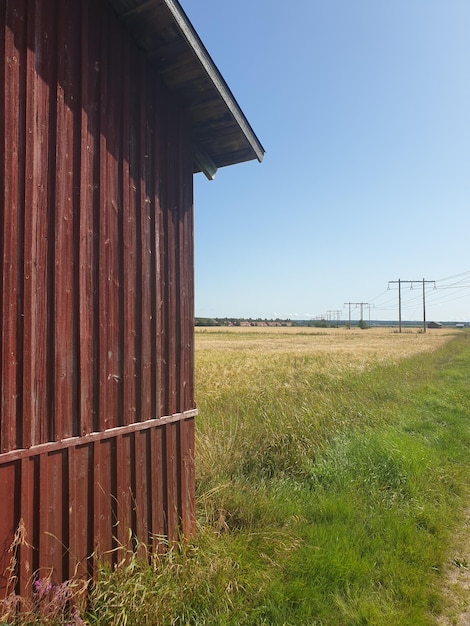
M 397 319 L 425 278 L 470 321 L 470 1 L 180 1 L 266 150 L 195 177 L 196 315 Z

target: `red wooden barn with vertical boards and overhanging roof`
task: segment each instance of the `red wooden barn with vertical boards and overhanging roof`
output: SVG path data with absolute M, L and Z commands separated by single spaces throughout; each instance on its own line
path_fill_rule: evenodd
M 194 530 L 193 174 L 263 148 L 176 0 L 0 0 L 0 574 Z

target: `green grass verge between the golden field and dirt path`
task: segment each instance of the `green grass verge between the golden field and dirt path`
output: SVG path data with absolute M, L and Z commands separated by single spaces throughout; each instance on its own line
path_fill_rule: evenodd
M 295 390 L 284 372 L 282 393 L 238 390 L 235 424 L 221 398 L 207 405 L 202 525 L 223 533 L 243 589 L 210 623 L 435 623 L 467 497 L 469 348 L 462 335 L 328 380 L 305 367 Z

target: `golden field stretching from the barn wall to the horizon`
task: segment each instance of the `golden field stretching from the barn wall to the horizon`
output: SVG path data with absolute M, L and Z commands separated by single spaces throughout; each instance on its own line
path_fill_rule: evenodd
M 196 329 L 196 453 L 201 483 L 212 484 L 218 471 L 246 469 L 255 458 L 266 459 L 267 449 L 272 467 L 308 466 L 311 447 L 320 449 L 346 426 L 384 419 L 388 395 L 382 389 L 384 368 L 395 369 L 419 353 L 431 354 L 456 332 Z M 397 394 L 405 402 L 406 385 Z M 288 454 L 286 433 L 293 441 L 308 441 L 303 458 L 296 445 Z

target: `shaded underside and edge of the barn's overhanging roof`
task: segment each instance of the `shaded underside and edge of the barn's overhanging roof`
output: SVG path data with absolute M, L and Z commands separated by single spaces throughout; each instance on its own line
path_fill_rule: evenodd
M 194 171 L 252 159 L 264 148 L 177 0 L 109 0 L 191 120 Z

